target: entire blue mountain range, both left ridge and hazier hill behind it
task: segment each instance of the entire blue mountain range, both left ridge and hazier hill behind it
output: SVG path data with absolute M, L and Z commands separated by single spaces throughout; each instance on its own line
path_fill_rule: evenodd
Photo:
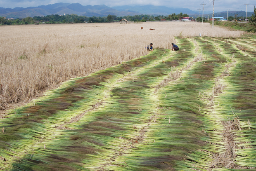
M 81 16 L 107 16 L 109 14 L 116 16 L 134 16 L 140 14 L 149 15 L 168 15 L 172 13 L 187 13 L 194 14 L 194 12 L 187 8 L 168 8 L 165 6 L 143 5 L 143 6 L 116 6 L 107 7 L 106 5 L 86 5 L 83 6 L 79 3 L 55 3 L 50 5 L 40 5 L 38 7 L 16 7 L 16 8 L 2 8 L 0 7 L 0 16 L 7 18 L 26 18 L 28 16 L 46 16 L 52 14 L 77 14 Z

